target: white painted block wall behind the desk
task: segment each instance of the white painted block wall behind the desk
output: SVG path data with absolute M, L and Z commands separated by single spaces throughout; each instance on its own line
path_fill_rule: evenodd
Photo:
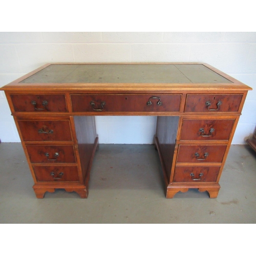
M 249 91 L 233 144 L 256 125 L 255 32 L 0 32 L 0 87 L 48 62 L 199 61 L 237 78 Z M 156 117 L 96 117 L 100 143 L 152 143 Z M 0 139 L 19 136 L 0 92 Z

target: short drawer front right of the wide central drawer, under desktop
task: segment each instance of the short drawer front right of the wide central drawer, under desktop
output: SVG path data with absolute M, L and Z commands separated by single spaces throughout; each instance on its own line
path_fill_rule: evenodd
M 242 94 L 188 94 L 185 112 L 238 112 Z

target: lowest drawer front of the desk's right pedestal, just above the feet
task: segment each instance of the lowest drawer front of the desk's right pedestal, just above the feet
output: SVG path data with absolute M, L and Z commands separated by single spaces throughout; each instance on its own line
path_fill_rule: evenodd
M 216 182 L 219 166 L 177 166 L 174 182 Z

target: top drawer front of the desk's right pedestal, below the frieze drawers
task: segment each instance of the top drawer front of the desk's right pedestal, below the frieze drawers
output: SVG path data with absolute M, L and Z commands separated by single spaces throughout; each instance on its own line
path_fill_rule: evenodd
M 183 119 L 180 140 L 228 140 L 234 119 Z

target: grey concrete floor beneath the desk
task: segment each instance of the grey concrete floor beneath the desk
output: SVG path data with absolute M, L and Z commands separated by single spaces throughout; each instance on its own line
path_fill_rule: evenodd
M 165 199 L 153 145 L 104 145 L 89 198 L 56 189 L 37 199 L 20 143 L 0 144 L 0 223 L 256 223 L 256 154 L 232 145 L 216 199 L 189 189 Z

